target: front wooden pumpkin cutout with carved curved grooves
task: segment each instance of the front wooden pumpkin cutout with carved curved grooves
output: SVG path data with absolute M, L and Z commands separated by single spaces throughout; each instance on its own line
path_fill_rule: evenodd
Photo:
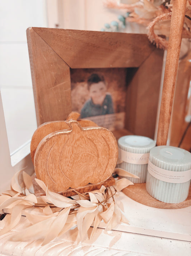
M 69 129 L 39 143 L 34 156 L 37 178 L 55 192 L 108 179 L 118 159 L 114 135 L 102 127 L 82 127 L 75 120 L 66 123 Z

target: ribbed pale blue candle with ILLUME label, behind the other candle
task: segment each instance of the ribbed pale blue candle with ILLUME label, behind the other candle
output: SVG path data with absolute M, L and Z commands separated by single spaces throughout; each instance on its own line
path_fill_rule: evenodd
M 119 167 L 140 178 L 128 177 L 133 183 L 144 183 L 146 181 L 149 152 L 155 145 L 154 140 L 137 135 L 123 136 L 118 140 L 119 159 L 123 161 Z M 121 178 L 126 177 L 121 176 Z

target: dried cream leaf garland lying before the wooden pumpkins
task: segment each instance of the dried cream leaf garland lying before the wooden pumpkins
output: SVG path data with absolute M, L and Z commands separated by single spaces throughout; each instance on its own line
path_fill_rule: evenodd
M 20 177 L 23 176 L 24 178 L 20 179 Z M 2 210 L 9 208 L 11 214 L 8 215 L 10 221 L 5 221 L 5 226 L 0 230 L 0 235 L 13 229 L 14 226 L 19 223 L 21 212 L 31 206 L 35 208 L 35 211 L 23 212 L 31 225 L 15 233 L 15 235 L 11 237 L 12 241 L 36 240 L 38 237 L 38 239 L 44 239 L 44 245 L 76 225 L 79 237 L 81 237 L 82 240 L 93 221 L 95 221 L 96 224 L 94 224 L 95 227 L 92 229 L 92 236 L 102 219 L 107 224 L 106 230 L 113 229 L 126 219 L 119 210 L 114 196 L 118 191 L 132 184 L 127 179 L 116 179 L 116 184 L 111 188 L 102 186 L 100 190 L 95 190 L 95 192 L 92 191 L 84 194 L 77 193 L 75 199 L 52 192 L 46 187 L 43 181 L 38 179 L 36 179 L 36 181 L 39 186 L 46 191 L 46 197 L 36 197 L 30 192 L 32 191 L 32 178 L 25 172 L 19 171 L 13 176 L 11 190 L 3 193 L 1 197 L 0 208 Z M 22 194 L 23 191 L 27 192 L 27 195 Z M 47 200 L 48 203 L 45 200 Z M 52 211 L 51 208 L 52 210 L 55 208 L 55 210 Z M 15 221 L 15 218 L 12 216 L 18 213 L 18 209 L 20 213 Z M 119 214 L 116 215 L 115 212 Z M 86 221 L 86 224 L 84 221 Z M 61 224 L 58 226 L 58 223 Z M 82 225 L 86 226 L 86 232 L 83 231 Z M 47 231 L 45 232 L 44 230 Z

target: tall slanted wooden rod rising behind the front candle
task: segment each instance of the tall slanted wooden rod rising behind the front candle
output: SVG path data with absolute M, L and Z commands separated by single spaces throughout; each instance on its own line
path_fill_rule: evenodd
M 161 109 L 158 123 L 157 146 L 166 145 L 167 143 L 185 11 L 186 0 L 173 1 L 167 59 L 164 72 Z

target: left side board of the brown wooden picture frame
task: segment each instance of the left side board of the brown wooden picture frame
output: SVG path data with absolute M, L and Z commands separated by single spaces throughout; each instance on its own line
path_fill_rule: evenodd
M 27 29 L 37 125 L 66 120 L 72 111 L 70 67 L 32 29 Z

